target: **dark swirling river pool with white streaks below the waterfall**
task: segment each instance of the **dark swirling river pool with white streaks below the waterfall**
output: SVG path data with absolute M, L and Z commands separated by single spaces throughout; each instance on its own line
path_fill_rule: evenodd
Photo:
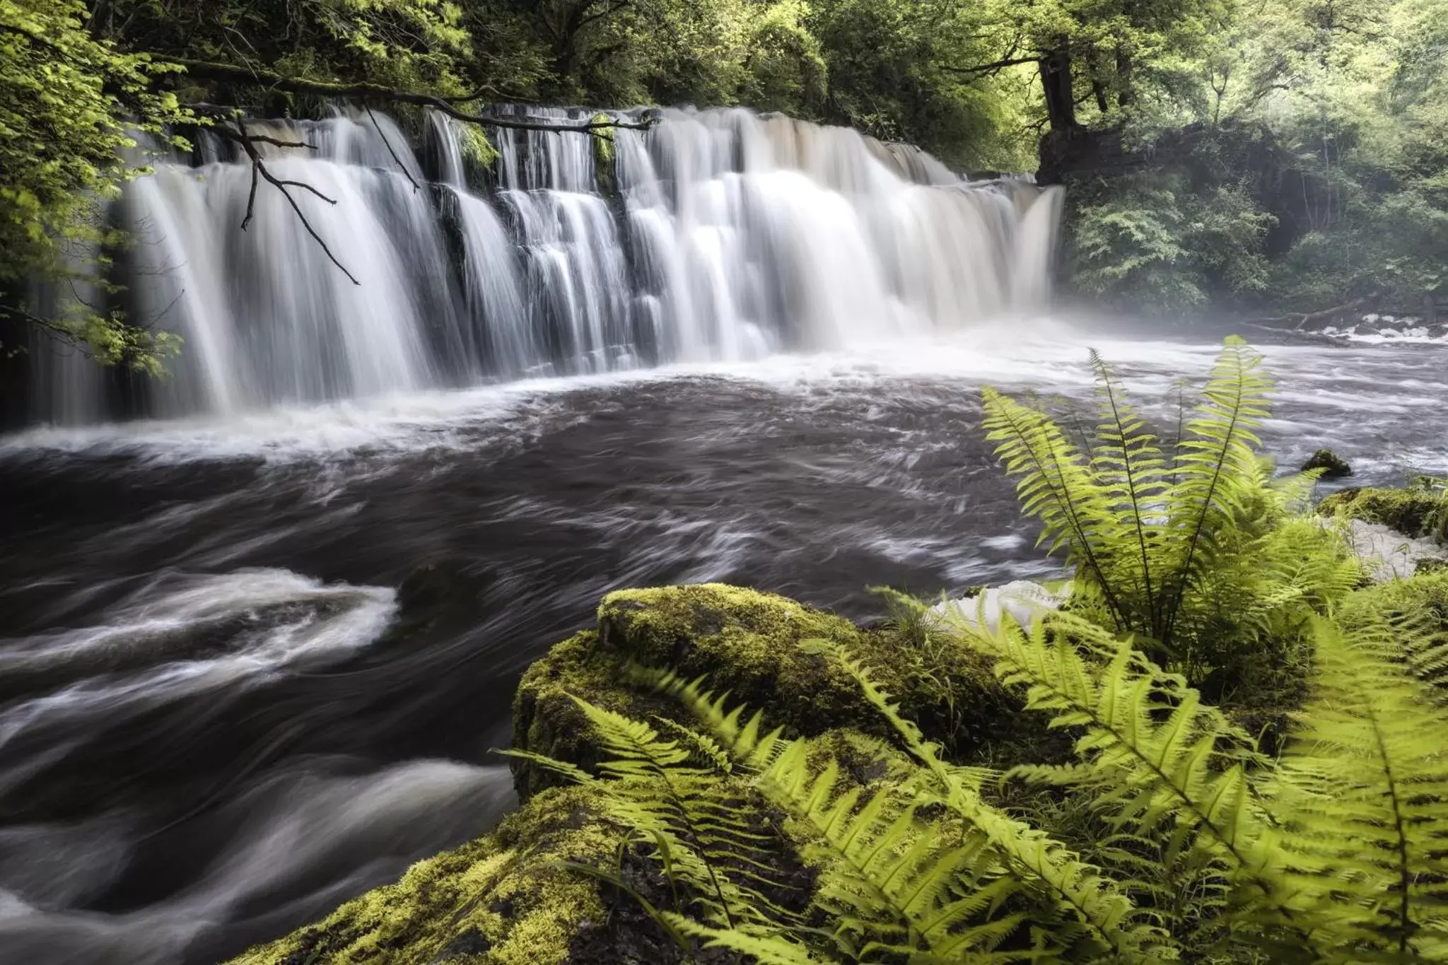
M 0 962 L 217 961 L 485 830 L 518 674 L 610 589 L 725 580 L 863 618 L 869 584 L 1053 573 L 977 386 L 1085 398 L 1085 344 L 0 440 Z M 1212 354 L 1099 347 L 1153 399 Z M 1448 472 L 1448 353 L 1268 354 L 1283 463 Z

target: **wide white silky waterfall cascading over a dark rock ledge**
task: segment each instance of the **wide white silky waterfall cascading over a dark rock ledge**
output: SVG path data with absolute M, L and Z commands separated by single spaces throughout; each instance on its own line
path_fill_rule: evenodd
M 915 148 L 778 114 L 647 116 L 657 123 L 613 132 L 607 152 L 586 133 L 489 129 L 498 158 L 487 169 L 463 124 L 439 113 L 421 159 L 384 114 L 255 122 L 253 133 L 310 145 L 262 152 L 275 177 L 310 188 L 291 194 L 327 250 L 266 184 L 240 230 L 251 166 L 203 135 L 194 158 L 156 163 L 109 213 L 132 239 L 111 298 L 182 337 L 172 373 L 120 379 L 38 346 L 32 418 L 97 421 L 122 414 L 122 396 L 126 414 L 227 415 L 750 360 L 951 333 L 1044 304 L 1056 190 L 970 182 Z M 104 299 L 100 279 L 80 288 Z M 62 301 L 36 295 L 52 310 Z

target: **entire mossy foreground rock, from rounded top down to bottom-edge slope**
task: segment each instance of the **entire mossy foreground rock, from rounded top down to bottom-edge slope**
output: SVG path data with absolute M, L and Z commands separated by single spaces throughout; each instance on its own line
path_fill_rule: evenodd
M 1008 593 L 1001 605 L 1014 612 L 1018 596 L 1028 593 Z M 723 584 L 604 598 L 597 628 L 556 644 L 524 674 L 514 748 L 585 770 L 597 765 L 602 751 L 571 694 L 641 719 L 694 723 L 676 702 L 631 683 L 631 664 L 668 666 L 707 676 L 711 689 L 762 709 L 786 736 L 811 738 L 809 760 L 835 760 L 843 787 L 898 780 L 905 755 L 883 716 L 837 661 L 801 647 L 820 639 L 844 644 L 864 661 L 901 712 L 946 744 L 951 760 L 989 761 L 1025 741 L 1050 748 L 1047 760 L 1069 754 L 1069 735 L 1048 731 L 1045 715 L 1022 713 L 986 658 L 930 629 L 928 621 L 896 618 L 862 629 L 782 596 Z M 400 881 L 252 948 L 233 965 L 682 965 L 682 952 L 639 901 L 568 867 L 621 871 L 660 907 L 676 898 L 653 862 L 623 846 L 630 832 L 608 819 L 598 791 L 559 787 L 552 773 L 521 758 L 511 764 L 521 804 L 494 832 L 413 865 Z M 802 842 L 780 828 L 792 842 L 779 855 L 788 864 Z M 808 894 L 812 871 L 798 864 L 789 881 L 792 894 Z M 710 951 L 696 961 L 744 959 Z

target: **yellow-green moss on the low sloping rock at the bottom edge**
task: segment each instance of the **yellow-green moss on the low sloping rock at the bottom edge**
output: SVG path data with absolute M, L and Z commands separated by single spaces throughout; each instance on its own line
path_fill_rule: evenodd
M 233 965 L 559 965 L 579 932 L 604 919 L 597 880 L 555 865 L 610 859 L 623 832 L 598 817 L 586 788 L 539 794 L 492 833 Z

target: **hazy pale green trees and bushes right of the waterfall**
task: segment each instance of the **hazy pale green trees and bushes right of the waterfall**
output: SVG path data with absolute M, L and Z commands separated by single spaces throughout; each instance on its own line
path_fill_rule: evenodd
M 1072 182 L 1074 285 L 1153 308 L 1435 313 L 1448 284 L 1448 7 L 1216 10 L 1196 43 L 1151 55 L 1153 71 L 1170 64 L 1170 84 L 1087 117 L 1134 155 L 1125 177 Z M 1206 213 L 1221 249 L 1195 237 Z M 1114 230 L 1128 214 L 1145 227 Z M 1114 272 L 1118 259 L 1131 266 Z

